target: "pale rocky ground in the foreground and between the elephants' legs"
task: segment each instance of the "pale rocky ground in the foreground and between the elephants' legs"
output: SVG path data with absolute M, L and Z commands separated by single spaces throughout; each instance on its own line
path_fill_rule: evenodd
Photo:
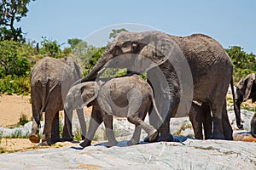
M 102 126 L 96 133 L 98 138 L 94 145 L 84 150 L 79 142 L 39 147 L 28 139 L 6 139 L 5 136 L 16 135 L 17 132 L 26 136 L 30 133 L 32 122 L 15 128 L 8 128 L 7 124 L 0 127 L 0 148 L 15 153 L 5 152 L 0 155 L 0 169 L 256 169 L 256 141 L 253 142 L 255 139 L 247 133 L 253 111 L 242 110 L 241 113 L 245 129 L 237 131 L 235 114 L 229 111 L 234 139 L 240 141 L 187 138 L 193 136 L 193 131 L 189 119 L 183 117 L 172 119 L 171 122 L 172 134 L 176 135 L 178 142 L 146 144 L 143 143 L 146 136 L 143 132 L 141 144 L 127 146 L 126 141 L 131 138 L 134 127 L 124 119 L 114 119 L 118 146 L 105 147 Z M 74 131 L 79 128 L 77 124 L 75 120 Z M 17 147 L 19 144 L 20 147 Z

